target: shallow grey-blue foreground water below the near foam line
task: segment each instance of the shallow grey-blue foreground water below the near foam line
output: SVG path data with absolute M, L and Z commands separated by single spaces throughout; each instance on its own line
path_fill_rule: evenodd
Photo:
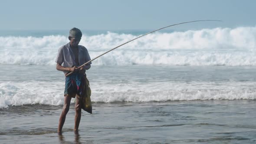
M 74 133 L 74 105 L 62 135 L 62 106 L 24 105 L 0 109 L 1 143 L 254 144 L 256 101 L 167 101 L 93 103 Z

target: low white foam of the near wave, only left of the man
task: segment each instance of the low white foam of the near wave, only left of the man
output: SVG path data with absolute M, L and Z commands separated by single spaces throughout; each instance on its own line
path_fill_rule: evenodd
M 4 82 L 0 83 L 0 108 L 8 105 L 63 104 L 63 84 L 56 82 Z

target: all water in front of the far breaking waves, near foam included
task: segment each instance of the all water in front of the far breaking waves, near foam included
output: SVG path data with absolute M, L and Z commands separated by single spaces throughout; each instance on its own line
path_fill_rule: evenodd
M 1 65 L 0 141 L 253 144 L 255 71 L 253 66 L 93 66 L 87 72 L 93 114 L 83 111 L 74 133 L 73 99 L 58 135 L 62 72 L 53 65 Z

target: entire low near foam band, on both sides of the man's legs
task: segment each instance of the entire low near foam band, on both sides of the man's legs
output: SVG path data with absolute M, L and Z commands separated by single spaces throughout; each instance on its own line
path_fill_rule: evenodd
M 93 102 L 256 99 L 256 82 L 92 83 Z M 63 104 L 62 82 L 0 83 L 0 108 Z M 73 103 L 74 101 L 72 101 Z

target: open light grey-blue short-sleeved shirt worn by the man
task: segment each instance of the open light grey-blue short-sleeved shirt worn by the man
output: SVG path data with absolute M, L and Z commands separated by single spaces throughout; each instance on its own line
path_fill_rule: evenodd
M 70 43 L 67 43 L 64 46 L 59 48 L 58 54 L 56 56 L 55 62 L 59 63 L 64 67 L 73 67 L 73 66 L 80 66 L 86 62 L 91 60 L 87 49 L 84 46 L 78 46 L 78 60 L 79 64 L 75 62 L 75 55 L 72 51 Z M 92 62 L 89 62 L 86 65 L 91 65 Z M 68 71 L 64 71 L 64 74 L 68 73 Z

